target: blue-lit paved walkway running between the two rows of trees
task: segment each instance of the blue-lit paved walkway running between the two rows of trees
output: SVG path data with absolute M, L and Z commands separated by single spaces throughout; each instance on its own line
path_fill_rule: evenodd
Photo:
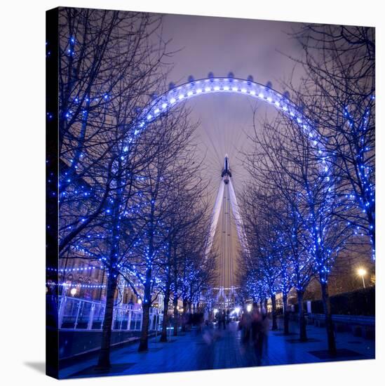
M 295 331 L 295 325 L 291 326 Z M 308 326 L 309 342 L 297 341 L 297 335 L 283 336 L 282 331 L 270 331 L 267 352 L 262 366 L 278 364 L 301 364 L 330 361 L 324 358 L 326 349 L 325 328 Z M 158 340 L 158 339 L 157 339 Z M 138 353 L 137 345 L 128 345 L 112 351 L 112 370 L 97 374 L 93 371 L 96 357 L 63 368 L 60 378 L 90 375 L 117 375 L 160 373 L 169 371 L 208 370 L 211 368 L 234 368 L 257 366 L 251 345 L 241 342 L 241 331 L 236 323 L 227 330 L 207 328 L 203 333 L 194 330 L 171 337 L 171 342 L 150 340 L 149 352 Z M 356 338 L 351 333 L 337 334 L 337 348 L 340 354 L 332 360 L 372 359 L 374 340 Z

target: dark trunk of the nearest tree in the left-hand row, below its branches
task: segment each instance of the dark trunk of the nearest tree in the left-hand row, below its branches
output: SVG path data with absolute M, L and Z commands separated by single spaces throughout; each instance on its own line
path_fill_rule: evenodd
M 116 291 L 117 275 L 110 273 L 107 279 L 107 299 L 106 310 L 104 311 L 102 343 L 100 345 L 99 359 L 97 361 L 97 368 L 105 369 L 111 367 L 109 361 L 109 352 L 112 335 L 112 318 L 114 315 L 114 297 Z

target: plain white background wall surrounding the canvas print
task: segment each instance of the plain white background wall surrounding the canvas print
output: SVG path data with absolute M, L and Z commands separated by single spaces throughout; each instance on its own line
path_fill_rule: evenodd
M 377 360 L 72 380 L 71 385 L 378 385 L 384 374 L 384 10 L 380 1 L 2 1 L 0 43 L 1 372 L 3 385 L 56 382 L 45 358 L 45 11 L 86 6 L 377 27 Z M 382 106 L 382 107 L 381 107 Z M 382 111 L 381 111 L 382 108 Z M 382 202 L 381 202 L 382 201 Z M 42 365 L 40 365 L 42 367 Z

